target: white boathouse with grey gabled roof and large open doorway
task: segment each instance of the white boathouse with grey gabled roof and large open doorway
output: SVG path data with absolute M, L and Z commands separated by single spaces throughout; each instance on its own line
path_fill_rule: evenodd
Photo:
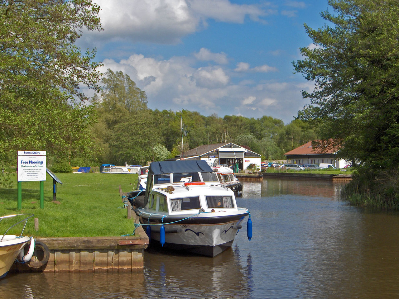
M 212 166 L 213 164 L 227 164 L 228 166 L 238 163 L 239 170 L 247 169 L 249 164 L 254 163 L 261 166 L 261 155 L 249 149 L 243 148 L 231 142 L 219 144 L 205 144 L 185 151 L 175 156 L 174 159 L 197 159 L 204 160 Z

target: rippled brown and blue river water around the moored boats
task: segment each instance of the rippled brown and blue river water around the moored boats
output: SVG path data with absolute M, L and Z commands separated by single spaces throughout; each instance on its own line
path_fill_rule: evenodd
M 288 179 L 244 182 L 246 225 L 215 258 L 149 248 L 137 273 L 17 273 L 1 299 L 399 298 L 399 214 L 340 199 L 342 184 Z

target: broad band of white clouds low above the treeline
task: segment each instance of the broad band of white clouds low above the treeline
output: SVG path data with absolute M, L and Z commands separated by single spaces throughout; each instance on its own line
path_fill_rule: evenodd
M 255 118 L 270 115 L 288 123 L 293 118 L 292 111 L 295 113 L 308 103 L 302 99 L 300 90 L 312 89 L 307 81 L 255 84 L 257 81 L 251 79 L 254 72 L 242 73 L 242 80 L 234 83 L 228 75 L 232 69 L 193 67 L 198 61 L 188 57 L 162 60 L 133 54 L 119 62 L 105 59 L 103 63 L 103 71 L 110 68 L 129 75 L 146 92 L 148 108 L 187 109 L 205 116 L 212 113 Z M 246 65 L 241 63 L 241 68 L 245 69 Z

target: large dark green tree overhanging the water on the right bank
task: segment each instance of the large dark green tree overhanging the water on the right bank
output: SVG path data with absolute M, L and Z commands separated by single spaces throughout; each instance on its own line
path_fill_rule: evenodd
M 311 105 L 298 117 L 322 124 L 322 137 L 341 146 L 341 157 L 358 159 L 361 173 L 381 178 L 399 166 L 399 3 L 329 4 L 336 14 L 321 15 L 332 25 L 313 30 L 305 24 L 316 47 L 302 48 L 305 58 L 294 63 L 315 83 L 312 92 L 302 92 Z

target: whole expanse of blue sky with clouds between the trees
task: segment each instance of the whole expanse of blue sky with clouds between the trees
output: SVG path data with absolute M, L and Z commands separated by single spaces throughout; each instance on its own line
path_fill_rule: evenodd
M 97 47 L 103 71 L 123 71 L 144 90 L 148 108 L 187 109 L 288 124 L 313 84 L 294 74 L 303 24 L 324 26 L 327 0 L 95 0 L 104 31 L 78 45 Z M 87 91 L 88 95 L 92 95 Z

